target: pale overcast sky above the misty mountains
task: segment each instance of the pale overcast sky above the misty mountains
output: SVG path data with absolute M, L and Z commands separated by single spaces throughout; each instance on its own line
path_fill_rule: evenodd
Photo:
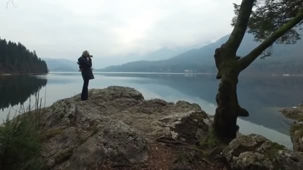
M 0 0 L 0 38 L 39 57 L 76 60 L 90 51 L 102 66 L 161 48 L 190 49 L 232 30 L 241 0 Z

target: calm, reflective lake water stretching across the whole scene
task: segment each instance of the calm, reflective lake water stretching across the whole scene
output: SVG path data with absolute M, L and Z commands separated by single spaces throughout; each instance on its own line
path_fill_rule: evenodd
M 134 87 L 146 99 L 162 98 L 173 102 L 186 100 L 198 103 L 207 113 L 214 114 L 218 83 L 215 75 L 95 73 L 95 80 L 90 81 L 89 88 L 110 85 Z M 241 76 L 239 101 L 250 112 L 250 117 L 238 119 L 240 132 L 261 134 L 291 148 L 288 132 L 291 121 L 281 116 L 278 110 L 302 102 L 302 87 L 301 76 Z M 33 95 L 38 89 L 43 103 L 46 93 L 45 105 L 49 106 L 58 99 L 80 93 L 82 78 L 80 73 L 1 76 L 0 119 L 5 119 L 9 111 L 14 114 L 14 110 L 20 108 L 19 103 L 27 106 L 29 97 L 33 104 Z

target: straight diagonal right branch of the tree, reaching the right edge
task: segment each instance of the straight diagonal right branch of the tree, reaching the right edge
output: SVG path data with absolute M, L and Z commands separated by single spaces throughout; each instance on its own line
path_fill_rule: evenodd
M 270 37 L 264 40 L 258 47 L 252 50 L 248 55 L 239 60 L 240 71 L 247 68 L 264 50 L 273 45 L 273 43 L 282 37 L 285 33 L 291 30 L 294 26 L 303 20 L 303 9 L 299 10 L 296 17 L 290 20 L 288 23 L 277 29 Z

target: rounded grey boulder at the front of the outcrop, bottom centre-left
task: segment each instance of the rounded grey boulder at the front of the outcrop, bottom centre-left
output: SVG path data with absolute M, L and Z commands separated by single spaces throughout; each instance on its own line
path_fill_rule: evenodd
M 55 170 L 85 170 L 98 165 L 135 165 L 147 160 L 148 144 L 140 132 L 119 120 L 109 122 L 71 152 Z

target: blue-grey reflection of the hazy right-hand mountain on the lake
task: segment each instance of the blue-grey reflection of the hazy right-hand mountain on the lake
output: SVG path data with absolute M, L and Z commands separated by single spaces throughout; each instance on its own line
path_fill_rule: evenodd
M 161 84 L 180 91 L 192 98 L 199 98 L 212 103 L 219 81 L 214 75 L 167 75 L 167 74 L 101 74 L 109 77 L 137 77 L 137 84 Z M 148 79 L 146 79 L 148 78 Z M 241 106 L 249 110 L 250 116 L 243 120 L 275 129 L 289 135 L 289 121 L 281 117 L 279 109 L 290 107 L 302 101 L 303 77 L 286 76 L 252 76 L 242 75 L 239 78 L 238 97 Z M 161 89 L 158 89 L 161 90 Z M 159 93 L 169 91 L 159 91 Z M 199 103 L 199 102 L 197 102 Z M 201 107 L 205 107 L 201 105 Z M 214 109 L 209 112 L 214 114 Z M 257 133 L 257 132 L 256 132 Z

